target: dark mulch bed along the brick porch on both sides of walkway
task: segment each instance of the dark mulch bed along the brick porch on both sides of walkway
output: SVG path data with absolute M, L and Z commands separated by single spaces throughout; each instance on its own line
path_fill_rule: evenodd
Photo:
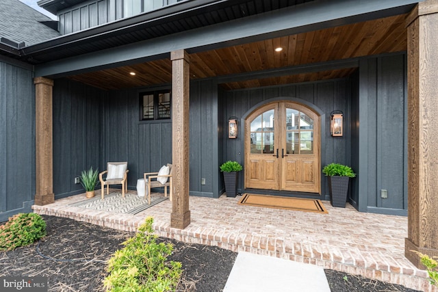
M 47 236 L 39 243 L 0 252 L 0 276 L 47 276 L 49 291 L 103 291 L 106 263 L 133 233 L 68 218 L 43 216 Z M 222 291 L 237 253 L 200 244 L 160 238 L 174 244 L 170 260 L 183 264 L 178 291 Z M 56 261 L 54 261 L 56 259 Z M 331 291 L 415 292 L 400 285 L 326 270 Z

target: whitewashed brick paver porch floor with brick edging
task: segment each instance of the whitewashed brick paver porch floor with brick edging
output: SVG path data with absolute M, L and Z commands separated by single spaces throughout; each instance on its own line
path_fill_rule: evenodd
M 40 214 L 129 231 L 136 230 L 150 215 L 157 234 L 163 237 L 311 263 L 420 291 L 438 291 L 428 284 L 426 271 L 404 257 L 407 217 L 360 213 L 349 204 L 345 209 L 334 208 L 328 201 L 323 202 L 329 214 L 250 207 L 237 204 L 240 198 L 190 196 L 191 224 L 184 230 L 170 228 L 172 203 L 168 200 L 136 215 L 68 206 L 85 200 L 85 194 L 33 208 Z

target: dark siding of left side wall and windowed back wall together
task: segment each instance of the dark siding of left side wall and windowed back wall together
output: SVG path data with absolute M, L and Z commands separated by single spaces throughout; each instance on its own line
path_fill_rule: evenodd
M 53 90 L 53 185 L 55 198 L 83 192 L 74 183 L 81 170 L 106 169 L 108 161 L 128 161 L 129 189 L 144 172 L 172 163 L 172 121 L 141 121 L 140 92 L 160 88 L 106 92 L 68 79 Z M 218 189 L 218 87 L 214 81 L 192 82 L 190 94 L 190 194 L 220 196 Z M 208 161 L 208 163 L 205 163 Z M 205 185 L 201 184 L 205 178 Z

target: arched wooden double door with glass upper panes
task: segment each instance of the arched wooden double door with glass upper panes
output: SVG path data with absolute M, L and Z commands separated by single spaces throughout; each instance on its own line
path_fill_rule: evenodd
M 245 122 L 245 187 L 320 194 L 320 116 L 270 103 Z

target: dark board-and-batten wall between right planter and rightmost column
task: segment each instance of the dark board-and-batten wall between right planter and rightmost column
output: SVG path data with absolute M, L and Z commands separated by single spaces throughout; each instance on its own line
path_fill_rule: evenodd
M 407 62 L 405 54 L 363 59 L 352 90 L 352 203 L 359 211 L 407 215 Z M 352 87 L 353 88 L 353 87 Z M 382 198 L 381 190 L 387 191 Z

